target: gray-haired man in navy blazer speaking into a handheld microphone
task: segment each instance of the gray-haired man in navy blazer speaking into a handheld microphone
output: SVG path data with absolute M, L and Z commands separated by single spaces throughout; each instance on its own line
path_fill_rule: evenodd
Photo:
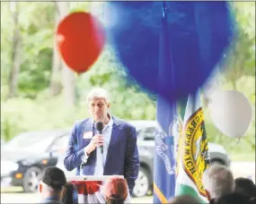
M 75 122 L 64 166 L 67 171 L 76 168 L 77 175 L 124 175 L 131 194 L 139 169 L 136 129 L 110 115 L 105 89 L 91 90 L 87 105 L 92 118 Z

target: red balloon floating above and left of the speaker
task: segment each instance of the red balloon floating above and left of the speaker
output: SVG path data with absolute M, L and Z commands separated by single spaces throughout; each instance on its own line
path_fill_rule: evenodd
M 90 13 L 70 13 L 57 26 L 57 48 L 66 65 L 86 72 L 102 52 L 105 32 Z

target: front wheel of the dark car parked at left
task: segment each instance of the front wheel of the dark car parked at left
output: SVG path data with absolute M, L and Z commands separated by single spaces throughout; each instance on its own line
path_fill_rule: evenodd
M 23 190 L 25 192 L 37 192 L 42 171 L 39 167 L 32 166 L 24 174 Z

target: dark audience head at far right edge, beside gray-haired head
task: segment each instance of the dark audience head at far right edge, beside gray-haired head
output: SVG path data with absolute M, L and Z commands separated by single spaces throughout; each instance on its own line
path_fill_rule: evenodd
M 256 186 L 251 179 L 239 177 L 234 180 L 234 191 L 253 199 L 255 198 Z

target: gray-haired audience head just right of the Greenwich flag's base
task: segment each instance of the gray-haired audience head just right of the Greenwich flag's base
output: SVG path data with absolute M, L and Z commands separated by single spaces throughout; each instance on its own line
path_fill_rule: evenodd
M 203 184 L 211 199 L 218 199 L 234 191 L 234 176 L 226 166 L 209 166 L 203 174 Z

